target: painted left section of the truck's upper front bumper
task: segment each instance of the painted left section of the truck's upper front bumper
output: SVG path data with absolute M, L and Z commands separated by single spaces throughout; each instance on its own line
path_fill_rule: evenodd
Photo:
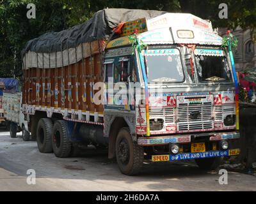
M 191 136 L 170 136 L 166 138 L 151 137 L 138 138 L 138 145 L 162 145 L 168 143 L 189 143 Z

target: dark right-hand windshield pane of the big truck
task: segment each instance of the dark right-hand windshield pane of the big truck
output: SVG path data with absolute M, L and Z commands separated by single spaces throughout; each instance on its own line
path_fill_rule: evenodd
M 223 50 L 196 49 L 195 61 L 201 82 L 230 82 L 230 70 Z

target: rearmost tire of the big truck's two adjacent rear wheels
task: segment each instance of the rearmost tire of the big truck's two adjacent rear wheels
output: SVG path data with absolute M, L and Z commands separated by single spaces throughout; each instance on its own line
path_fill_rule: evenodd
M 42 153 L 52 152 L 52 120 L 40 119 L 36 128 L 37 147 Z

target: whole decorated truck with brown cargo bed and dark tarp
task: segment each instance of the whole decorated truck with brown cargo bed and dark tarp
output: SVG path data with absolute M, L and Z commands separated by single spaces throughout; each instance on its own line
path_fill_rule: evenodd
M 107 147 L 126 175 L 144 159 L 214 169 L 239 154 L 230 43 L 208 20 L 106 9 L 29 41 L 22 56 L 22 111 L 40 152 Z

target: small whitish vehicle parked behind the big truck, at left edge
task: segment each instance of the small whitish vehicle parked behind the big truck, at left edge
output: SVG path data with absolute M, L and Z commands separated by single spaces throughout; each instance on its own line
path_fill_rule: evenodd
M 28 120 L 25 120 L 24 113 L 20 110 L 22 102 L 22 92 L 3 94 L 3 109 L 5 120 L 10 122 L 10 136 L 16 138 L 17 132 L 22 131 L 22 139 L 28 141 L 30 134 L 28 131 Z

